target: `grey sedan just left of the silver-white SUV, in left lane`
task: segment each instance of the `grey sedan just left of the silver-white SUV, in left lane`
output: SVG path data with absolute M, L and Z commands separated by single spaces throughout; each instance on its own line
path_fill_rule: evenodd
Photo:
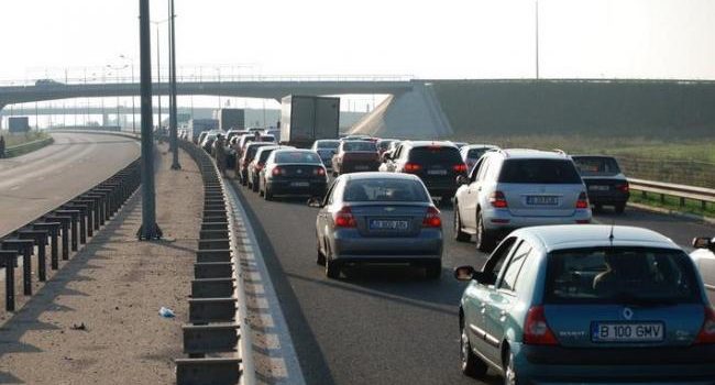
M 338 177 L 316 221 L 318 264 L 338 278 L 348 264 L 409 264 L 438 279 L 442 271 L 440 211 L 422 182 L 407 174 Z

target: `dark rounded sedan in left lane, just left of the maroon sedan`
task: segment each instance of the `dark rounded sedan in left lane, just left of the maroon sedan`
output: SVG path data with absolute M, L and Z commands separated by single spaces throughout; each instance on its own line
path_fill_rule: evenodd
M 326 166 L 310 150 L 275 150 L 268 155 L 258 178 L 258 195 L 322 197 L 328 185 Z

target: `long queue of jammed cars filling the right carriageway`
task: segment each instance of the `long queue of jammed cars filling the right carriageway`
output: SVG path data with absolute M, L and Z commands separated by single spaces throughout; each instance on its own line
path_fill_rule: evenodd
M 715 311 L 694 262 L 715 249 L 712 239 L 694 240 L 689 255 L 652 230 L 594 223 L 595 212 L 622 215 L 629 199 L 614 157 L 339 135 L 337 124 L 301 135 L 293 132 L 296 98 L 279 128 L 194 140 L 246 191 L 266 201 L 298 197 L 318 210 L 316 268 L 324 279 L 350 279 L 343 273 L 354 265 L 398 264 L 435 280 L 454 267 L 442 263 L 448 243 L 488 254 L 480 268 L 453 268 L 464 283 L 454 304 L 464 375 L 715 383 Z

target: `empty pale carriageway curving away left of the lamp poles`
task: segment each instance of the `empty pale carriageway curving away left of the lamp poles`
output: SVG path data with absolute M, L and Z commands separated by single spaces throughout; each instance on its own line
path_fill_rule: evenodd
M 134 161 L 139 142 L 88 133 L 53 133 L 55 143 L 0 160 L 0 237 L 107 179 Z

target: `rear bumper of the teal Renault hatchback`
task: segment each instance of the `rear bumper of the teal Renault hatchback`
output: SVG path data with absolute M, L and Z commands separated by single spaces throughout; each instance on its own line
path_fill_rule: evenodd
M 713 384 L 715 346 L 568 349 L 510 345 L 526 384 Z

